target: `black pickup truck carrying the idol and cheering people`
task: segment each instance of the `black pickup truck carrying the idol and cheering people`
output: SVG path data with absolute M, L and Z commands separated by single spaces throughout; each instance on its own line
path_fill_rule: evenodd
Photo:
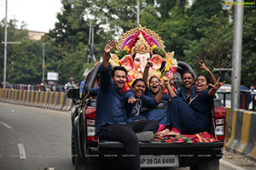
M 85 94 L 93 86 L 102 64 L 96 65 L 88 76 L 84 85 L 82 97 L 79 96 L 79 89 L 71 89 L 68 97 L 73 99 L 75 109 L 72 117 L 72 161 L 75 169 L 102 169 L 102 167 L 112 167 L 111 169 L 121 169 L 118 155 L 124 150 L 124 144 L 117 141 L 99 142 L 95 138 L 95 116 L 96 99 L 87 99 L 84 102 Z M 194 76 L 195 71 L 190 65 L 182 61 L 177 64 L 177 86 L 181 83 L 180 75 L 183 71 L 191 71 Z M 225 110 L 219 99 L 214 99 L 212 104 L 211 133 L 218 142 L 211 143 L 166 143 L 151 141 L 140 142 L 141 167 L 159 169 L 160 167 L 190 167 L 191 170 L 219 169 L 219 159 L 223 156 Z M 109 159 L 116 159 L 111 161 Z

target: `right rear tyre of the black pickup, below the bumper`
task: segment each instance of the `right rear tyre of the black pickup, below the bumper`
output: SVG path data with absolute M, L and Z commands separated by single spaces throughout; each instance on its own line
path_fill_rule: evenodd
M 190 167 L 190 170 L 219 170 L 219 160 L 200 161 L 195 166 Z

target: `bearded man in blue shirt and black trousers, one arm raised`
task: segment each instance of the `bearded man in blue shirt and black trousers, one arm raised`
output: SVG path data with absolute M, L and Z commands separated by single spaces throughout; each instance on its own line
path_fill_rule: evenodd
M 159 125 L 150 120 L 127 122 L 123 94 L 121 94 L 126 83 L 127 71 L 125 67 L 117 66 L 113 68 L 111 74 L 109 53 L 114 47 L 115 42 L 109 41 L 104 48 L 100 69 L 101 84 L 96 101 L 96 134 L 100 140 L 114 140 L 125 144 L 124 158 L 127 164 L 123 167 L 139 170 L 138 141 L 151 139 Z

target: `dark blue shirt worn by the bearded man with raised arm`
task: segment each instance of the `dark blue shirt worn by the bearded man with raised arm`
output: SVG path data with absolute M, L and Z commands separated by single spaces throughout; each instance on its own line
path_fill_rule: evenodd
M 111 80 L 111 65 L 101 67 L 100 81 L 96 100 L 96 133 L 104 125 L 127 123 L 123 94 Z

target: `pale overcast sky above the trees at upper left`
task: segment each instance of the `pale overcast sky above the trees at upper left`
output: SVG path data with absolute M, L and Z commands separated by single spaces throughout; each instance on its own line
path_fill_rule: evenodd
M 5 17 L 5 1 L 0 0 L 0 20 Z M 56 14 L 61 12 L 61 0 L 8 0 L 7 19 L 25 21 L 31 31 L 49 32 L 55 27 Z

